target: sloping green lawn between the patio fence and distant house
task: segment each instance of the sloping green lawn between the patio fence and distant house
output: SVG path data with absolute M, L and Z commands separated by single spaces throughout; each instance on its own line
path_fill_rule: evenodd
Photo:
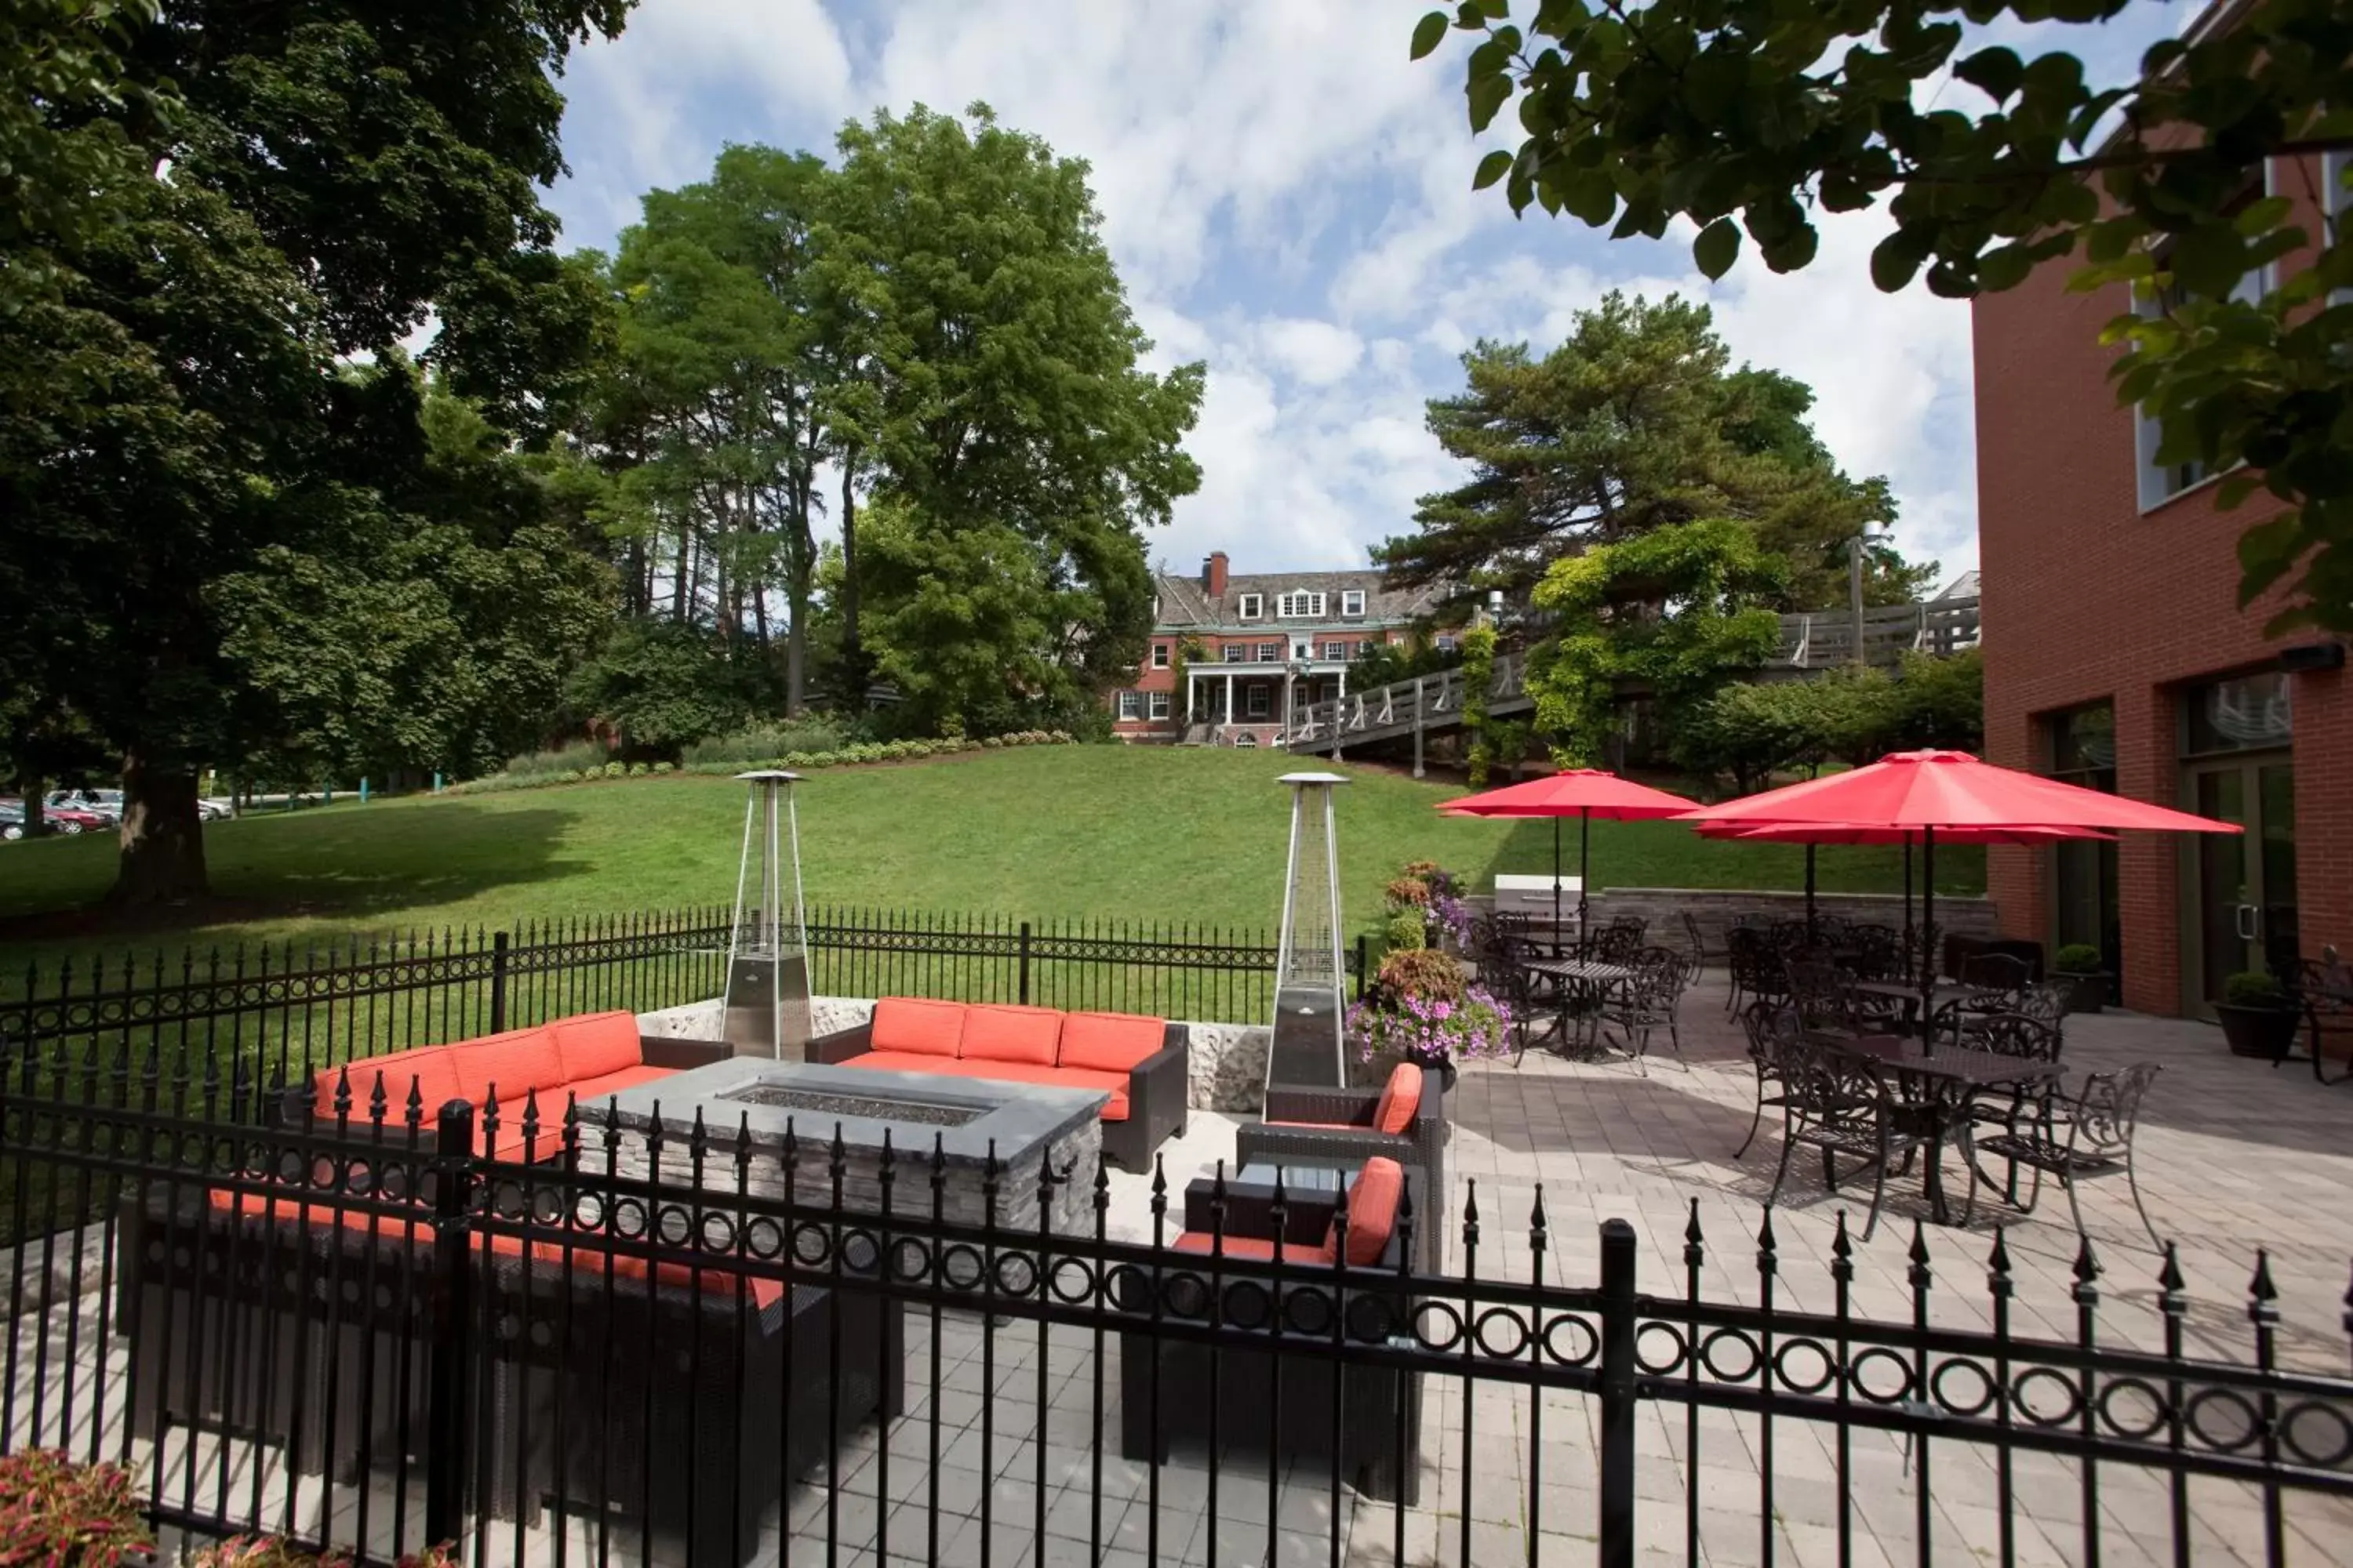
M 1033 748 L 901 766 L 840 769 L 800 785 L 809 903 L 1009 917 L 1127 917 L 1273 924 L 1287 790 L 1297 759 L 1233 750 Z M 1348 924 L 1365 926 L 1398 863 L 1433 858 L 1478 886 L 1551 865 L 1548 823 L 1442 818 L 1459 785 L 1377 769 L 1341 790 Z M 744 827 L 744 785 L 645 778 L 478 797 L 336 802 L 205 830 L 224 910 L 186 931 L 313 940 L 412 926 L 501 926 L 553 914 L 725 903 Z M 1577 825 L 1567 825 L 1577 856 Z M 113 877 L 108 837 L 0 846 L 0 961 L 35 950 L 120 950 L 122 936 L 42 940 L 40 917 L 96 900 Z M 1595 886 L 1802 886 L 1805 853 L 1725 844 L 1671 823 L 1595 823 Z M 1939 891 L 1977 893 L 1984 858 L 1948 851 Z M 1894 891 L 1892 849 L 1824 849 L 1826 891 Z

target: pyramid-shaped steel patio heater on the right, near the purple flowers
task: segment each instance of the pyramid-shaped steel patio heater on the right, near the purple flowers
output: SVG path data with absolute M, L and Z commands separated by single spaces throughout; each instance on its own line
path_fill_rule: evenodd
M 1282 936 L 1275 943 L 1275 1030 L 1266 1051 L 1268 1084 L 1337 1088 L 1348 1081 L 1341 1056 L 1346 971 L 1339 961 L 1339 842 L 1332 790 L 1341 773 L 1285 773 L 1292 788 L 1292 853 L 1282 872 Z

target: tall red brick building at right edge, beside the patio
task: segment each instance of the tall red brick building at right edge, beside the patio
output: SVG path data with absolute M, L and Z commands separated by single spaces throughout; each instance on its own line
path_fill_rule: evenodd
M 2266 172 L 2306 233 L 2353 221 L 2341 158 Z M 2266 957 L 2353 952 L 2353 675 L 2341 642 L 2238 609 L 2261 496 L 2221 512 L 2214 475 L 2153 461 L 2099 343 L 2129 299 L 2068 273 L 1974 306 L 1986 755 L 2247 835 L 1993 849 L 1988 893 L 2014 936 L 2099 945 L 2127 1006 L 2195 1016 Z

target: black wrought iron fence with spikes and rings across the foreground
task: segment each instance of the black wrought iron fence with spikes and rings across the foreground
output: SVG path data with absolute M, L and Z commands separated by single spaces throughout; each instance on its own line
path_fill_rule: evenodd
M 1701 1288 L 1697 1218 L 1680 1279 L 1645 1288 L 1609 1220 L 1598 1276 L 1558 1284 L 1541 1190 L 1506 1222 L 1412 1173 L 1391 1211 L 1304 1173 L 1144 1187 L 614 1107 L 485 1159 L 501 1128 L 461 1103 L 275 1121 L 256 1086 L 198 1114 L 231 1077 L 0 1079 L 0 1164 L 56 1204 L 9 1258 L 0 1434 L 125 1465 L 191 1535 L 454 1540 L 480 1568 L 2285 1563 L 2353 1537 L 2353 1380 L 2280 1366 L 2261 1262 L 2247 1356 L 2193 1356 L 2172 1262 L 2132 1345 L 2089 1248 L 2047 1338 L 2000 1241 L 1915 1239 L 1911 1312 L 1868 1316 L 1840 1232 L 1833 1309 L 1791 1312 L 1769 1220 L 1748 1291 Z M 1414 1269 L 1428 1222 L 1452 1272 Z

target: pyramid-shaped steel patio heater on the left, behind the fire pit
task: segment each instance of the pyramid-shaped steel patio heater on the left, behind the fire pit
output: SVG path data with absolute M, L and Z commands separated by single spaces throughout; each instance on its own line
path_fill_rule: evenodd
M 744 858 L 727 936 L 727 1013 L 720 1034 L 736 1056 L 800 1060 L 809 1044 L 809 950 L 800 900 L 800 773 L 736 773 L 744 802 Z M 786 860 L 791 853 L 791 860 Z

